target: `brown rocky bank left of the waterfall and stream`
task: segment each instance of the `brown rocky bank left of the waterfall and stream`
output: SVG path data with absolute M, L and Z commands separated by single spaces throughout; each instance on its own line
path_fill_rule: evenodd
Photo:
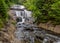
M 0 30 L 0 43 L 12 43 L 14 41 L 15 20 L 13 14 L 9 11 L 9 20 L 6 23 L 5 28 Z

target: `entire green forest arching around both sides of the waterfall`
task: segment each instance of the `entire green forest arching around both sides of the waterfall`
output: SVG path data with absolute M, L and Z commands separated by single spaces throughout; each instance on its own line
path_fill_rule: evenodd
M 0 0 L 0 28 L 8 22 L 8 11 L 13 4 L 26 6 L 33 12 L 35 23 L 60 24 L 60 0 Z

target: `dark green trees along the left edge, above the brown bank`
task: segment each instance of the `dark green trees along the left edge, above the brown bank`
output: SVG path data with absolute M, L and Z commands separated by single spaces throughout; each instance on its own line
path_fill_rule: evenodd
M 8 22 L 8 10 L 12 0 L 0 0 L 0 28 L 3 28 Z

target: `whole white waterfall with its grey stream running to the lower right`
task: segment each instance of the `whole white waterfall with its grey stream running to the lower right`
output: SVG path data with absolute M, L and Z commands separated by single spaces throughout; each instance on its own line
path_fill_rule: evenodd
M 16 7 L 16 8 L 20 9 L 20 7 Z M 24 7 L 22 6 L 22 8 Z M 37 36 L 37 37 L 42 37 L 44 39 L 44 40 L 42 39 L 43 40 L 42 43 L 50 43 L 49 38 L 53 40 L 60 39 L 54 35 L 46 33 L 44 29 L 39 30 L 40 28 L 37 28 L 37 26 L 33 24 L 34 19 L 32 17 L 32 12 L 22 8 L 20 9 L 20 11 L 15 11 L 16 17 L 19 19 L 16 24 L 17 30 L 15 31 L 15 36 L 18 40 L 27 40 L 29 41 L 29 43 L 34 43 L 34 40 Z M 25 30 L 26 28 L 28 28 L 29 30 Z M 60 41 L 54 43 L 60 43 Z

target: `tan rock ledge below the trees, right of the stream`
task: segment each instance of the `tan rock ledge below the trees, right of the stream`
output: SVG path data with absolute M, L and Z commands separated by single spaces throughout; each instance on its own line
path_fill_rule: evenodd
M 42 28 L 44 28 L 46 30 L 50 30 L 50 31 L 53 31 L 55 33 L 60 34 L 60 25 L 54 26 L 54 25 L 52 25 L 50 23 L 40 23 L 39 27 L 42 27 Z

